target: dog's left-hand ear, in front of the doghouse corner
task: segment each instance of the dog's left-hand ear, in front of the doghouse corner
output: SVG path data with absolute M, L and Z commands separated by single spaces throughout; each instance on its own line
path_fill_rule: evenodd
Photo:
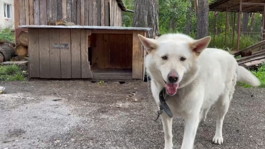
M 158 48 L 157 40 L 145 38 L 144 36 L 140 34 L 138 34 L 138 37 L 148 53 Z

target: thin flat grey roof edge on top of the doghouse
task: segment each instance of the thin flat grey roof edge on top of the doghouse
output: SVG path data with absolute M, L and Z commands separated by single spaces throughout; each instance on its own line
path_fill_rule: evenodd
M 152 28 L 143 28 L 143 27 L 118 27 L 118 26 L 53 26 L 53 25 L 20 25 L 19 28 L 53 28 L 53 29 L 105 29 L 105 30 L 141 30 L 141 31 L 150 31 Z

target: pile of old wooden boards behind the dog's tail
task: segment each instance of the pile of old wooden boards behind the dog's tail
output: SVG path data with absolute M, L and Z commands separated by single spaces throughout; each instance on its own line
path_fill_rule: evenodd
M 241 58 L 237 59 L 238 65 L 248 69 L 255 69 L 265 63 L 265 49 L 262 49 L 264 45 L 265 40 L 233 53 L 235 57 L 241 55 Z M 253 52 L 257 48 L 261 50 Z

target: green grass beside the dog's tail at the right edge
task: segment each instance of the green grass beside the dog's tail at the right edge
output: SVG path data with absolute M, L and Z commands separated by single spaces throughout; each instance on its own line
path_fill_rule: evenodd
M 251 71 L 261 82 L 261 85 L 259 87 L 265 87 L 265 63 L 262 64 L 257 71 Z M 237 83 L 238 85 L 242 85 L 246 88 L 250 88 L 251 86 L 249 84 L 244 84 L 244 83 Z

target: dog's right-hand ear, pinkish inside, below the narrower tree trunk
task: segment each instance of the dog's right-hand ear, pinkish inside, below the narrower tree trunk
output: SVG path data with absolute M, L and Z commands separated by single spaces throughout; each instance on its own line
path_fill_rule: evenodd
M 205 48 L 207 48 L 210 41 L 211 36 L 206 36 L 205 38 L 190 43 L 190 48 L 196 53 L 196 55 L 199 55 Z

